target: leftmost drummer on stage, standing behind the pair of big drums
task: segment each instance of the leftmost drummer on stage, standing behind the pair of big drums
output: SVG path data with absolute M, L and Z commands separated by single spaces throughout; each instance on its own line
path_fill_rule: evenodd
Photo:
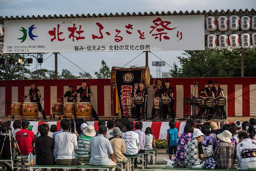
M 32 103 L 37 103 L 38 105 L 38 111 L 40 111 L 43 115 L 42 121 L 47 121 L 46 116 L 44 113 L 44 109 L 42 109 L 41 103 L 40 103 L 40 98 L 42 97 L 40 94 L 40 90 L 36 88 L 36 84 L 34 82 L 30 83 L 31 89 L 28 91 L 28 93 L 23 97 L 25 100 L 28 96 L 30 98 L 30 101 Z

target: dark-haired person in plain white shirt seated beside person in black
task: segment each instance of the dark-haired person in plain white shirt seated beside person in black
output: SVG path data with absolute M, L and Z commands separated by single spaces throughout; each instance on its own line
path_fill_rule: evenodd
M 62 133 L 55 135 L 55 146 L 57 150 L 57 165 L 72 166 L 80 165 L 75 158 L 75 151 L 77 151 L 77 135 L 69 132 L 71 129 L 71 123 L 68 119 L 63 119 L 60 122 Z M 57 169 L 62 170 L 62 169 Z M 82 169 L 75 169 L 76 171 Z

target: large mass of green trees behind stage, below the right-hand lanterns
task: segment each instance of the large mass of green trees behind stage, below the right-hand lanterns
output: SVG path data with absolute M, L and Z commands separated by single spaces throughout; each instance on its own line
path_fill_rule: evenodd
M 172 77 L 241 77 L 241 50 L 185 50 L 178 56 L 181 68 L 174 63 Z M 244 52 L 244 76 L 255 77 L 256 51 Z M 182 73 L 182 74 L 181 74 Z

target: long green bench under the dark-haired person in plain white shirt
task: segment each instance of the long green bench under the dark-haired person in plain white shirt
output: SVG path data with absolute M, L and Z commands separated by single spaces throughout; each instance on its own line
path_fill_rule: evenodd
M 74 166 L 61 166 L 61 165 L 27 165 L 29 167 L 30 171 L 33 171 L 33 168 L 39 171 L 42 168 L 48 168 L 48 169 L 64 169 L 66 171 L 67 169 L 98 169 L 99 171 L 109 171 L 112 168 L 117 167 L 117 165 L 111 165 L 111 166 L 90 166 L 90 165 L 74 165 Z

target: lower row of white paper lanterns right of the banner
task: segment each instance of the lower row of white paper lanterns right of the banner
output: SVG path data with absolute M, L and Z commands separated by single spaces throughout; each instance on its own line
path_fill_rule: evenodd
M 252 39 L 251 39 L 252 38 Z M 252 45 L 256 48 L 256 32 L 251 36 L 248 33 L 241 34 L 240 38 L 238 34 L 220 34 L 218 37 L 220 49 L 227 49 L 229 44 L 230 48 L 238 49 L 240 44 L 244 49 L 248 49 Z M 216 49 L 217 46 L 217 36 L 215 34 L 209 34 L 207 36 L 207 47 L 208 49 Z

